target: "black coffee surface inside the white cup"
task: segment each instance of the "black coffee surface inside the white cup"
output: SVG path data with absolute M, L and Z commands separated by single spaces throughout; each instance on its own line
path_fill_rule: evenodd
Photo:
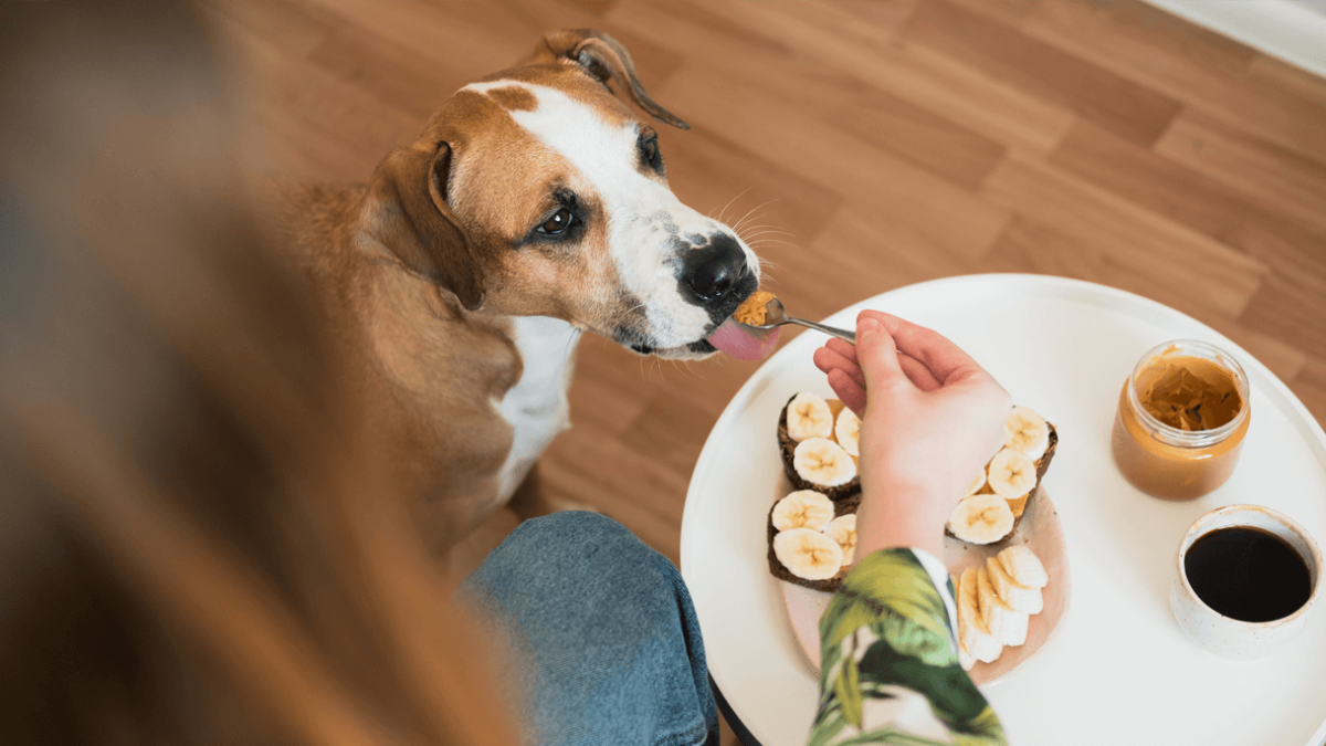
M 1284 619 L 1313 592 L 1303 558 L 1280 536 L 1250 526 L 1199 536 L 1183 571 L 1204 604 L 1240 621 Z

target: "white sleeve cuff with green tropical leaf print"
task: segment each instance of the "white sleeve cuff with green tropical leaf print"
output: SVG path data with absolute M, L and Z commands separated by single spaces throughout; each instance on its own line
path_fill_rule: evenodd
M 943 585 L 926 563 L 939 568 Z M 810 746 L 1006 743 L 957 662 L 953 587 L 941 568 L 927 552 L 892 548 L 862 559 L 843 579 L 819 620 Z

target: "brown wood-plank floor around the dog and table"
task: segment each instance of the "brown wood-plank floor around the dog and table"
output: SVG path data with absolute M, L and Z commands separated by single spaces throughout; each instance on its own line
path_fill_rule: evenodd
M 672 187 L 735 220 L 817 319 L 971 272 L 1105 283 L 1184 311 L 1326 421 L 1326 80 L 1138 1 L 215 0 L 288 171 L 365 181 L 542 32 L 623 41 L 690 131 Z M 581 345 L 545 490 L 674 561 L 691 469 L 751 364 Z

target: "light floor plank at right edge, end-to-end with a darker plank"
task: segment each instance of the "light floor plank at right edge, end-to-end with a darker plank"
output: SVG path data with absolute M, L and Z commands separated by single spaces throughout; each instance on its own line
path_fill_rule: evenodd
M 1155 153 L 1326 230 L 1326 161 L 1305 158 L 1227 119 L 1184 112 Z

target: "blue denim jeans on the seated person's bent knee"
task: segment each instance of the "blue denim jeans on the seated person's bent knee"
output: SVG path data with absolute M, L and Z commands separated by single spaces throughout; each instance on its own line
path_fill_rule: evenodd
M 716 746 L 719 713 L 682 575 L 610 518 L 526 520 L 457 597 L 512 650 L 508 693 L 541 746 Z

